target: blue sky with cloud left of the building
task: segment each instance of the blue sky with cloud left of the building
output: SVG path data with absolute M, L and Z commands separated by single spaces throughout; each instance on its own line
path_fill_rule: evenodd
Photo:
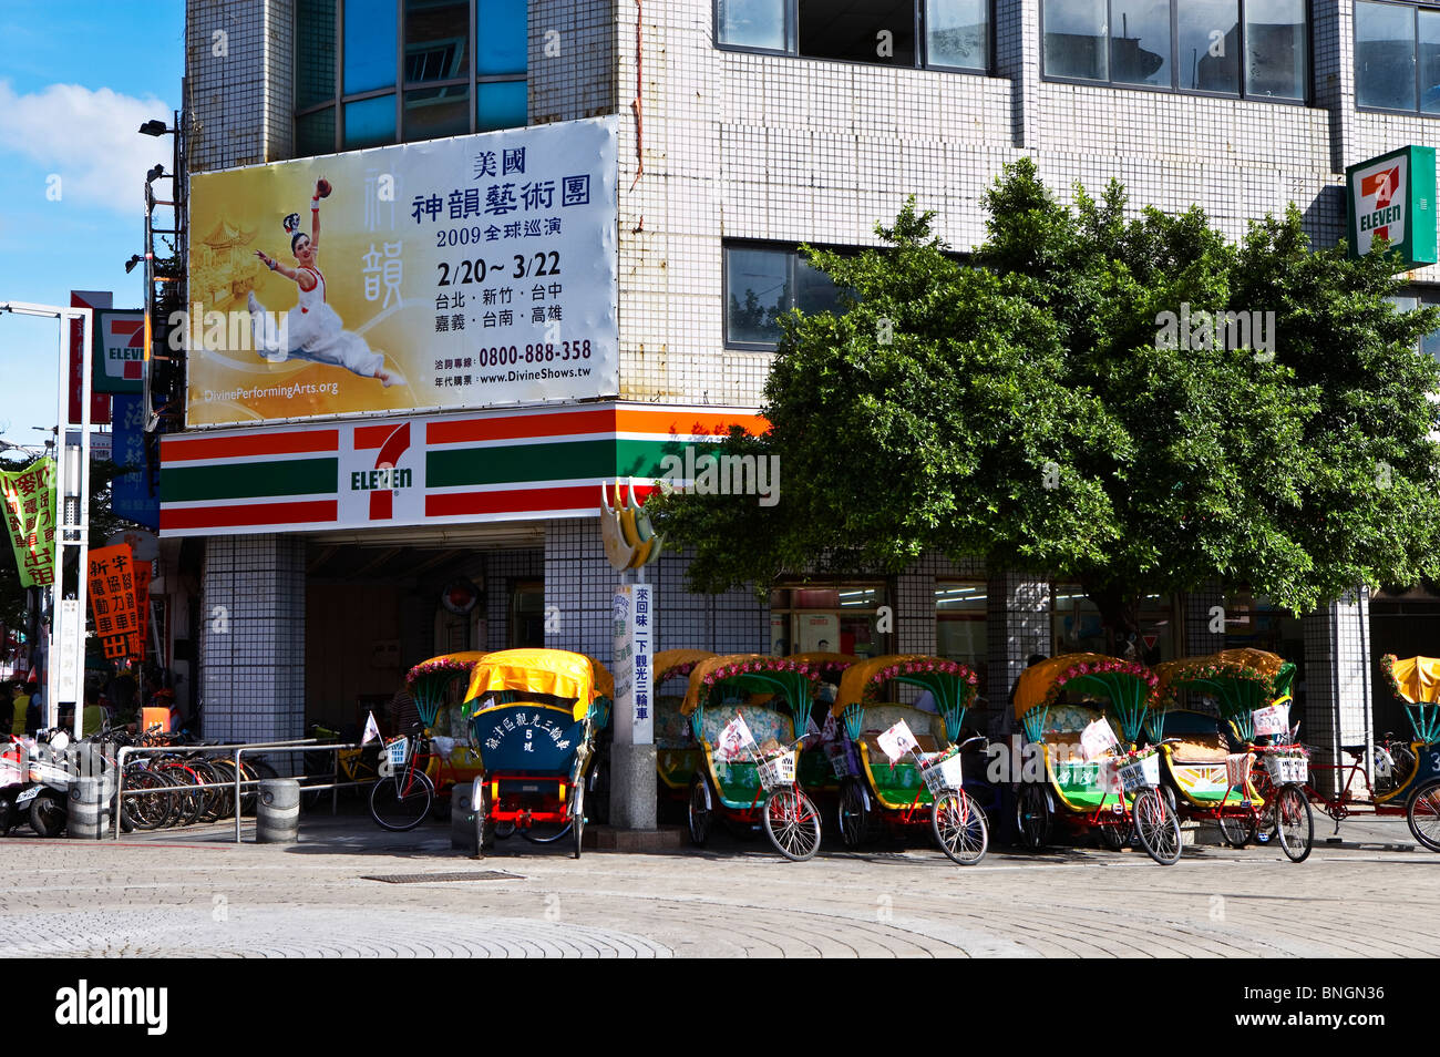
M 171 141 L 137 130 L 180 102 L 183 0 L 4 0 L 0 40 L 0 301 L 108 289 L 140 307 L 124 262 L 141 252 L 145 170 L 168 170 Z M 0 315 L 0 439 L 39 442 L 56 384 L 56 324 Z

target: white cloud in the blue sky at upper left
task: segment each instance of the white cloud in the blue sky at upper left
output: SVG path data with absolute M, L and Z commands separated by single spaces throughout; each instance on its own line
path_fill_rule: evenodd
M 50 85 L 19 95 L 0 81 L 0 157 L 22 154 L 59 174 L 62 202 L 138 216 L 145 173 L 157 161 L 168 171 L 173 145 L 168 135 L 154 138 L 137 130 L 150 118 L 168 125 L 171 115 L 160 99 L 108 88 Z

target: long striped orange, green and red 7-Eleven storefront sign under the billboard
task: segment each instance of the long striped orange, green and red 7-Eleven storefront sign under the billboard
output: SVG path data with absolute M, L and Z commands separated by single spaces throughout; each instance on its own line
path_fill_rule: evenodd
M 664 472 L 743 409 L 595 403 L 176 433 L 160 445 L 160 531 L 264 531 L 590 517 L 598 485 Z

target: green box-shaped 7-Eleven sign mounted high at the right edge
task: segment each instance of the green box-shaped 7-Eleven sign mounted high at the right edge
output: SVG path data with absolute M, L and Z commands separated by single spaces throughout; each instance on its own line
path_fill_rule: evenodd
M 1436 264 L 1436 151 L 1403 147 L 1345 170 L 1349 255 L 1385 242 L 1400 268 Z

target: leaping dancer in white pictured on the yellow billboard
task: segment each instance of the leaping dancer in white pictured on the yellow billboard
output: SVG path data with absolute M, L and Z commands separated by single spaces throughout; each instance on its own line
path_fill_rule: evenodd
M 302 360 L 344 367 L 360 377 L 380 379 L 390 386 L 405 382 L 393 370 L 386 370 L 384 354 L 377 353 L 359 334 L 344 328 L 340 315 L 325 301 L 325 276 L 315 264 L 320 252 L 320 200 L 330 196 L 330 181 L 315 181 L 315 196 L 310 200 L 310 235 L 300 230 L 300 215 L 285 217 L 289 232 L 289 252 L 295 255 L 297 268 L 282 265 L 272 256 L 256 249 L 255 256 L 272 272 L 279 272 L 300 289 L 298 304 L 289 310 L 278 330 L 271 323 L 265 305 L 249 295 L 251 328 L 255 334 L 255 350 L 271 363 L 284 363 L 295 356 Z

